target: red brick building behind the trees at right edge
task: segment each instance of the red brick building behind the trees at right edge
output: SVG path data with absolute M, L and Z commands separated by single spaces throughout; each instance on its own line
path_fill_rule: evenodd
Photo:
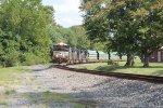
M 150 55 L 149 62 L 163 63 L 163 46 Z

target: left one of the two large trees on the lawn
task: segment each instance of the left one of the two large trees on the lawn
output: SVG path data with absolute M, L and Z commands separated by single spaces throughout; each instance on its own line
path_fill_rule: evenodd
M 129 3 L 129 1 L 128 1 Z M 102 6 L 103 5 L 103 6 Z M 133 5 L 126 8 L 124 1 L 84 1 L 82 6 L 86 12 L 85 27 L 91 40 L 106 41 L 108 51 L 116 51 L 120 55 L 127 54 L 126 66 L 133 65 L 134 51 L 136 49 L 135 37 L 129 35 L 135 29 L 133 26 L 128 10 L 136 10 Z M 133 9 L 131 9 L 133 8 Z

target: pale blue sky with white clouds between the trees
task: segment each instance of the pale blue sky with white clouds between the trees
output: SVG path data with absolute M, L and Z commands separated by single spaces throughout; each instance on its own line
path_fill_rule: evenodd
M 63 27 L 82 25 L 83 18 L 78 9 L 80 0 L 42 0 L 42 3 L 54 8 L 57 24 Z

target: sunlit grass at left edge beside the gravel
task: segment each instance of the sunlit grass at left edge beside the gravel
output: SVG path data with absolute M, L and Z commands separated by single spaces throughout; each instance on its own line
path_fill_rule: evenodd
M 18 75 L 24 72 L 29 72 L 29 70 L 25 67 L 0 67 L 0 86 L 4 87 L 4 90 L 0 91 L 0 106 L 8 106 L 8 99 L 11 98 L 12 94 L 15 94 L 13 90 L 13 86 L 17 84 L 15 80 L 21 79 Z

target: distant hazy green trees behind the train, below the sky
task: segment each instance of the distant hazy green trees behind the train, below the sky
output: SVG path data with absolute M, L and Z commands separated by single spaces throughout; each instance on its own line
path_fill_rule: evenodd
M 77 49 L 104 50 L 104 43 L 91 42 L 83 26 L 72 26 L 64 28 L 60 25 L 51 28 L 50 37 L 52 43 L 64 42 Z

